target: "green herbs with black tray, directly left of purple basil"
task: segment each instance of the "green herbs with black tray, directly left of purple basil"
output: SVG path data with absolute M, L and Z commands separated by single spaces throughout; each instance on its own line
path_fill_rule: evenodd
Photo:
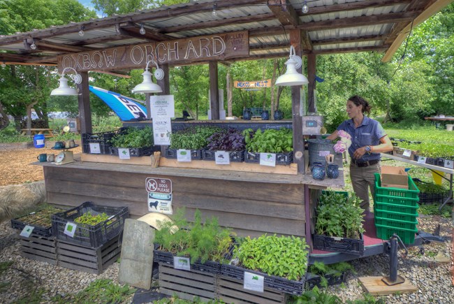
M 170 134 L 170 147 L 166 149 L 166 158 L 176 159 L 177 150 L 191 150 L 191 159 L 202 159 L 202 149 L 214 133 L 221 131 L 214 126 L 191 126 Z

